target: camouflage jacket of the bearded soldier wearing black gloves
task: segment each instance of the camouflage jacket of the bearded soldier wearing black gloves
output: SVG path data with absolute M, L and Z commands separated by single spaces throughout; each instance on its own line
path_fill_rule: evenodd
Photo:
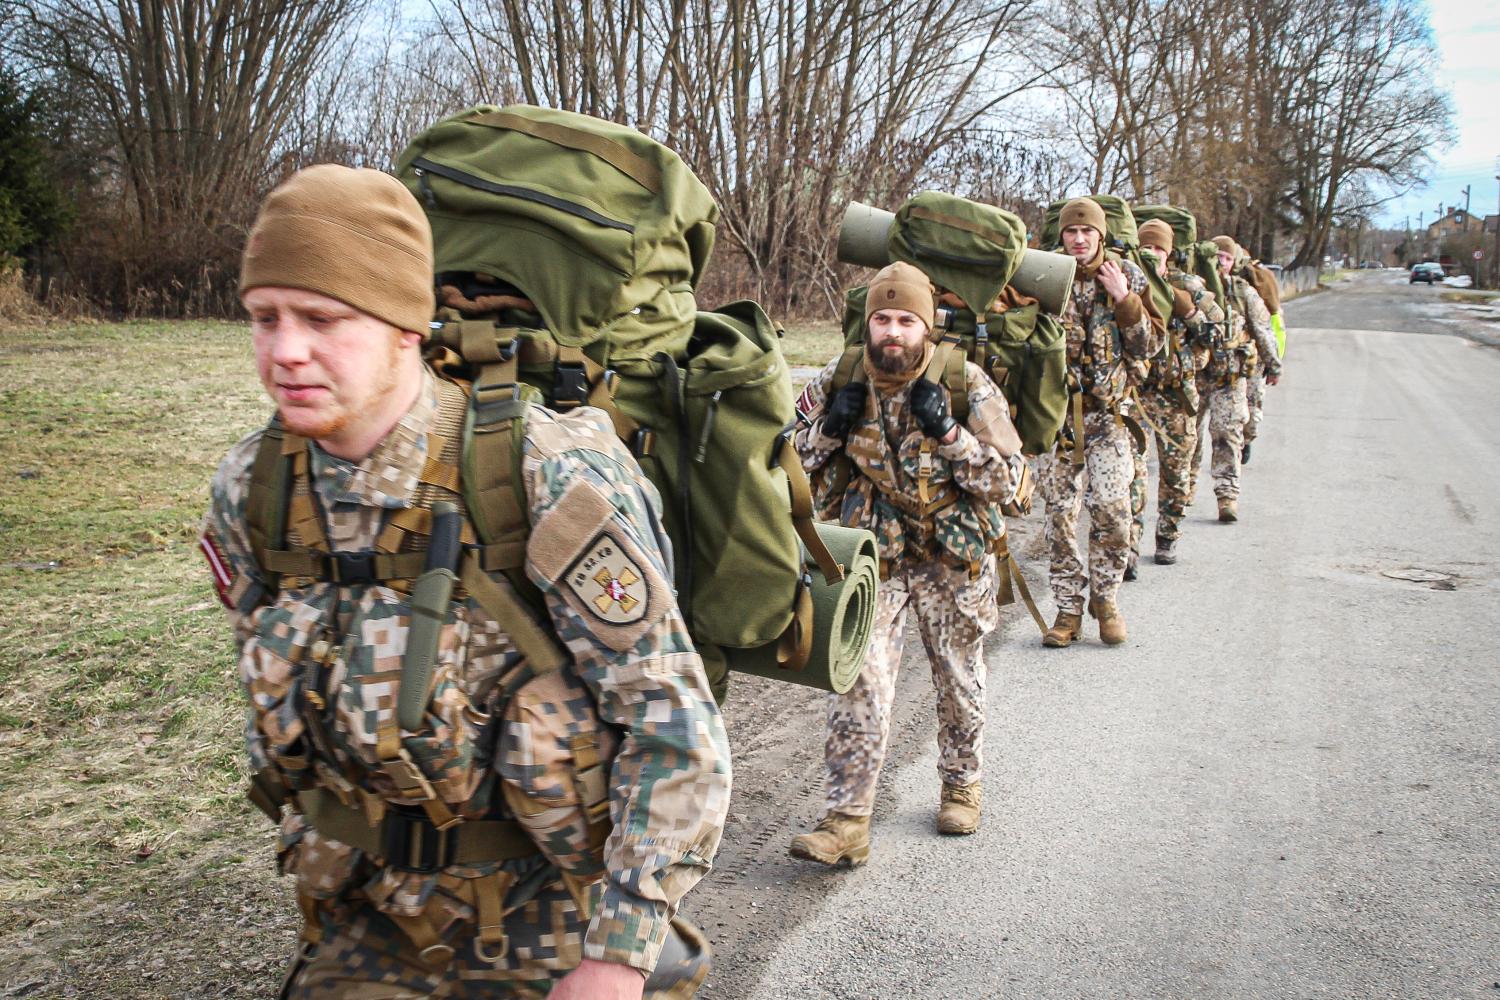
M 969 415 L 952 444 L 938 444 L 906 405 L 910 385 L 891 394 L 872 385 L 864 417 L 840 441 L 822 432 L 837 367 L 834 358 L 798 400 L 796 450 L 812 474 L 820 516 L 874 532 L 882 567 L 891 573 L 933 559 L 976 565 L 1005 534 L 999 504 L 1011 501 L 1020 483 L 1020 457 L 1006 459 L 987 444 L 993 426 L 1010 426 L 1005 396 L 980 366 L 964 364 Z M 838 454 L 848 456 L 850 475 L 834 496 L 828 472 Z

